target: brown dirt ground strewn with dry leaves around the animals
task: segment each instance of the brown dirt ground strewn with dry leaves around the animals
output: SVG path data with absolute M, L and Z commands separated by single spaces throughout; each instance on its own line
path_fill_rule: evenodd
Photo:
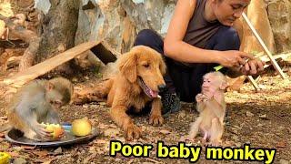
M 11 71 L 10 71 L 11 73 Z M 98 81 L 98 74 L 73 77 L 75 88 L 90 86 Z M 0 77 L 2 80 L 4 77 Z M 82 80 L 81 80 L 82 79 Z M 289 80 L 290 77 L 289 77 Z M 243 147 L 250 144 L 252 148 L 276 149 L 274 163 L 291 163 L 291 83 L 282 80 L 274 73 L 264 75 L 258 80 L 263 91 L 256 93 L 254 88 L 246 83 L 241 92 L 226 93 L 229 124 L 223 135 L 223 146 Z M 0 123 L 6 121 L 4 93 L 7 87 L 0 88 Z M 25 159 L 29 163 L 189 163 L 188 159 L 157 159 L 156 143 L 165 141 L 166 145 L 177 145 L 194 118 L 197 117 L 192 104 L 183 103 L 180 112 L 171 114 L 165 119 L 162 127 L 148 125 L 148 115 L 133 116 L 135 124 L 142 128 L 143 138 L 125 141 L 123 132 L 115 126 L 108 116 L 108 108 L 104 102 L 90 103 L 82 106 L 70 105 L 61 111 L 62 120 L 71 122 L 75 118 L 89 118 L 100 134 L 93 140 L 66 146 L 62 148 L 34 148 L 10 144 L 0 134 L 0 152 L 10 153 L 14 159 Z M 201 137 L 198 137 L 198 139 Z M 117 154 L 109 156 L 109 141 L 120 140 L 129 144 L 152 144 L 154 149 L 149 158 L 125 158 Z M 200 145 L 197 143 L 188 143 Z M 250 161 L 206 160 L 205 153 L 197 163 L 261 163 Z

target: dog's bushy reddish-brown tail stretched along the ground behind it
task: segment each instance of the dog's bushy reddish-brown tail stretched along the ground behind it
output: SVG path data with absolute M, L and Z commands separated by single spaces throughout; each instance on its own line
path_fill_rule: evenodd
M 114 78 L 107 78 L 98 83 L 94 88 L 88 88 L 81 92 L 75 93 L 74 104 L 84 104 L 88 102 L 105 101 L 110 89 L 113 87 Z

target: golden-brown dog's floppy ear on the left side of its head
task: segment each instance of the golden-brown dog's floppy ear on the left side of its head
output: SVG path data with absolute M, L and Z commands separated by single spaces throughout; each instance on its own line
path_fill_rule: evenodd
M 118 63 L 119 71 L 129 80 L 134 83 L 136 81 L 136 60 L 137 56 L 135 51 L 129 51 L 123 54 Z

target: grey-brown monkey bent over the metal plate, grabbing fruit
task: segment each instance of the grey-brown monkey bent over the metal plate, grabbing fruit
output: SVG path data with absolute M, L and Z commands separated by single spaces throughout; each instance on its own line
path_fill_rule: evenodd
M 24 132 L 25 138 L 51 140 L 52 135 L 41 123 L 59 124 L 57 109 L 68 104 L 72 95 L 73 85 L 63 77 L 28 83 L 9 102 L 8 123 L 0 132 L 16 128 Z

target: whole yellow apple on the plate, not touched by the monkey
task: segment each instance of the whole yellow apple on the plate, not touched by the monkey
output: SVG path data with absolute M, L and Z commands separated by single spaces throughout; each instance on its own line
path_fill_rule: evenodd
M 72 122 L 72 133 L 75 136 L 86 136 L 91 133 L 92 125 L 88 118 L 75 119 Z

